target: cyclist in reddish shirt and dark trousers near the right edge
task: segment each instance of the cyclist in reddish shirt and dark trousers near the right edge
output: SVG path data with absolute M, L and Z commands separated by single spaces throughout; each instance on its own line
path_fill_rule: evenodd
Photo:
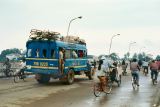
M 151 70 L 151 79 L 153 79 L 153 75 L 155 75 L 155 82 L 157 83 L 157 76 L 158 76 L 158 65 L 155 62 L 155 60 L 152 60 L 150 64 L 150 70 Z

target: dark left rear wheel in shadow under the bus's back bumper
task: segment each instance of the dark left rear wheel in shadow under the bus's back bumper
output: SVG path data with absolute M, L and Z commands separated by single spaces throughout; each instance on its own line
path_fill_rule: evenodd
M 40 84 L 48 83 L 50 80 L 50 76 L 45 74 L 36 74 L 35 78 Z

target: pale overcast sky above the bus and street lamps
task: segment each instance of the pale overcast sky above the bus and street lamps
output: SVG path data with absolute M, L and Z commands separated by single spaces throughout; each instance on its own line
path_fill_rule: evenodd
M 159 0 L 0 0 L 0 51 L 25 50 L 31 29 L 51 30 L 86 40 L 88 54 L 160 54 Z

